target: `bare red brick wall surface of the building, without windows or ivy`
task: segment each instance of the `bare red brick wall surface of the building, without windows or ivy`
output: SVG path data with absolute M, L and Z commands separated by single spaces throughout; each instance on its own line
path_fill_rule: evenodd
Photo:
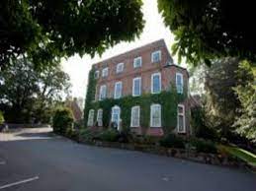
M 160 50 L 161 59 L 159 62 L 151 62 L 151 53 Z M 141 57 L 141 67 L 134 68 L 133 60 L 136 57 Z M 117 74 L 117 65 L 124 63 L 124 70 Z M 99 71 L 99 78 L 96 85 L 95 100 L 99 100 L 100 87 L 103 85 L 107 86 L 107 97 L 114 97 L 115 83 L 122 82 L 123 90 L 122 96 L 132 95 L 132 80 L 136 77 L 141 78 L 141 94 L 151 93 L 151 75 L 154 73 L 161 74 L 161 91 L 170 90 L 171 85 L 175 86 L 176 73 L 183 75 L 183 89 L 187 91 L 189 83 L 189 75 L 186 69 L 174 65 L 172 57 L 166 47 L 163 39 L 144 45 L 142 47 L 133 49 L 124 54 L 112 57 L 104 60 L 100 63 L 93 65 L 96 71 Z M 108 67 L 108 76 L 102 77 L 102 70 Z M 183 103 L 185 106 L 186 113 L 186 134 L 190 133 L 189 128 L 189 104 L 185 100 Z M 134 128 L 132 128 L 134 129 Z M 140 128 L 135 128 L 135 132 L 140 133 Z M 147 134 L 150 135 L 162 135 L 163 131 L 161 128 L 148 128 Z

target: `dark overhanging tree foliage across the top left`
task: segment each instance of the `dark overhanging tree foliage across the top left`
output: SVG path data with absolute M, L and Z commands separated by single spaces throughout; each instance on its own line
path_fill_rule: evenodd
M 26 53 L 34 64 L 101 54 L 142 32 L 141 0 L 2 0 L 0 66 Z

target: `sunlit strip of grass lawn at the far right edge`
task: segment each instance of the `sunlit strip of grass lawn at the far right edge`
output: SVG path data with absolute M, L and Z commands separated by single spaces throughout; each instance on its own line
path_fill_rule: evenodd
M 224 151 L 234 157 L 242 159 L 253 166 L 256 166 L 256 155 L 254 155 L 248 151 L 245 151 L 245 150 L 237 148 L 237 147 L 230 147 L 230 146 L 223 146 L 223 145 L 218 146 L 218 149 L 220 151 Z

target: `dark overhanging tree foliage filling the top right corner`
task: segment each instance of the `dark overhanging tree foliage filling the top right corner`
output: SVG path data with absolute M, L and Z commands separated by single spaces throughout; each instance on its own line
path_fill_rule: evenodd
M 173 52 L 194 63 L 216 57 L 256 60 L 253 1 L 158 0 L 164 23 L 175 35 Z

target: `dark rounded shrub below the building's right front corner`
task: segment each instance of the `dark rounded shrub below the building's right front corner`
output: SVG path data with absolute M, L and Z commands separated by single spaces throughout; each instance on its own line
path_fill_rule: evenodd
M 184 149 L 185 148 L 185 141 L 174 134 L 169 134 L 163 139 L 160 140 L 160 146 L 166 147 L 166 148 L 179 148 Z

